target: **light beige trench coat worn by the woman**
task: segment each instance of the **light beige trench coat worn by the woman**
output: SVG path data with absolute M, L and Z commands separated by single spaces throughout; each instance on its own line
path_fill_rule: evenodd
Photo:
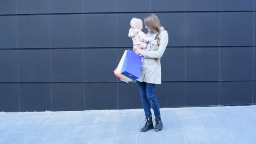
M 152 33 L 147 33 L 148 37 L 151 37 Z M 155 61 L 155 59 L 160 59 L 165 52 L 165 48 L 168 44 L 168 33 L 165 30 L 160 32 L 160 43 L 159 48 L 154 50 L 157 46 L 157 40 L 153 40 L 148 43 L 145 51 L 141 52 L 143 56 L 143 61 L 141 63 L 141 76 L 137 81 L 146 82 L 152 84 L 161 84 L 162 82 L 162 72 L 160 60 Z

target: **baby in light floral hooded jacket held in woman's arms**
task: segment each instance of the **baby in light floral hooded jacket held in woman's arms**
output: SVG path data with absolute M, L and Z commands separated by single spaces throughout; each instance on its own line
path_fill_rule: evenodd
M 129 30 L 129 37 L 132 37 L 133 40 L 133 51 L 135 48 L 141 48 L 144 50 L 147 47 L 147 43 L 155 40 L 156 35 L 152 35 L 152 37 L 147 37 L 144 32 L 142 32 L 143 22 L 141 19 L 133 18 L 131 19 L 131 28 Z

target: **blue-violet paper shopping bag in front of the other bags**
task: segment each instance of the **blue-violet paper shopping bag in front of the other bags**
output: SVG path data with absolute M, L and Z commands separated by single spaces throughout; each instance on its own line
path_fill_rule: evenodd
M 121 74 L 132 80 L 137 80 L 141 75 L 141 56 L 127 50 Z

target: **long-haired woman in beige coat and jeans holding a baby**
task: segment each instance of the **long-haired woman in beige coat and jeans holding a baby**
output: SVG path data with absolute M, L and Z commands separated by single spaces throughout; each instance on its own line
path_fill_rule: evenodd
M 161 64 L 160 58 L 163 56 L 165 48 L 168 44 L 168 33 L 160 27 L 160 21 L 154 14 L 149 14 L 144 19 L 146 28 L 148 29 L 147 36 L 151 36 L 156 32 L 156 38 L 151 43 L 148 43 L 145 50 L 135 48 L 135 53 L 143 56 L 141 63 L 141 76 L 137 80 L 141 101 L 145 112 L 145 125 L 141 128 L 141 132 L 149 131 L 154 128 L 150 104 L 155 115 L 155 131 L 161 131 L 163 123 L 160 115 L 160 106 L 155 96 L 155 84 L 161 84 Z

